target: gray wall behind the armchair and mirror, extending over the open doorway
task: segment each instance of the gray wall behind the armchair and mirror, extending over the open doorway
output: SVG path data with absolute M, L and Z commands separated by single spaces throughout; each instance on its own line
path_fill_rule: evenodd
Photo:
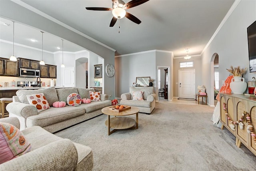
M 157 67 L 171 67 L 171 53 L 150 51 L 115 58 L 116 97 L 129 92 L 129 87 L 136 82 L 136 77 L 154 79 L 153 86 L 157 92 Z

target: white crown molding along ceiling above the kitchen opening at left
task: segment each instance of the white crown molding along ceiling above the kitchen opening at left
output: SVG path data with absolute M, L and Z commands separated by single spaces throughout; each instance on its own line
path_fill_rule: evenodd
M 113 49 L 113 48 L 111 48 L 111 47 L 109 47 L 109 46 L 99 42 L 98 40 L 95 40 L 94 38 L 91 38 L 90 36 L 88 36 L 88 35 L 80 32 L 80 31 L 78 31 L 78 30 L 68 26 L 67 24 L 64 24 L 63 22 L 57 20 L 56 18 L 53 18 L 52 16 L 49 16 L 48 14 L 45 14 L 44 12 L 42 12 L 42 11 L 40 11 L 40 10 L 38 10 L 38 9 L 28 5 L 28 4 L 26 4 L 25 2 L 22 2 L 21 0 L 11 0 L 11 1 L 16 3 L 16 4 L 18 4 L 18 5 L 20 5 L 20 6 L 22 6 L 22 7 L 24 7 L 24 8 L 27 8 L 28 10 L 30 10 L 30 11 L 32 11 L 32 12 L 34 12 L 34 13 L 40 15 L 40 16 L 43 16 L 43 17 L 47 18 L 48 20 L 51 20 L 52 22 L 55 22 L 55 23 L 65 27 L 65 28 L 67 28 L 67 29 L 77 33 L 77 34 L 80 34 L 81 36 L 83 36 L 85 38 L 88 38 L 89 40 L 92 40 L 93 42 L 95 42 L 97 44 L 100 44 L 101 46 L 104 46 L 105 48 L 108 48 L 109 50 L 112 50 L 112 51 L 116 52 L 115 49 Z

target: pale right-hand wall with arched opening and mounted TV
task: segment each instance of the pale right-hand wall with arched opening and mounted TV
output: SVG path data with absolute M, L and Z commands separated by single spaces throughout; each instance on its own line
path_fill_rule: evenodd
M 212 87 L 210 78 L 210 61 L 212 55 L 217 53 L 219 56 L 219 77 L 220 87 L 222 81 L 229 76 L 226 68 L 230 66 L 240 66 L 247 68 L 244 74 L 245 81 L 256 77 L 256 72 L 249 73 L 249 57 L 247 42 L 247 27 L 256 20 L 256 1 L 242 0 L 234 9 L 230 17 L 226 20 L 218 34 L 202 54 L 202 84 Z M 214 104 L 212 94 L 208 93 L 210 105 Z

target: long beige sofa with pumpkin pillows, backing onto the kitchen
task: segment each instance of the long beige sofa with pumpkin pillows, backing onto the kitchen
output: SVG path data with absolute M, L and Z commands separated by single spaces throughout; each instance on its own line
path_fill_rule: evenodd
M 108 95 L 101 94 L 100 101 L 92 101 L 91 103 L 74 107 L 66 105 L 65 107 L 52 107 L 55 101 L 67 102 L 67 97 L 71 93 L 78 93 L 82 98 L 90 98 L 89 91 L 94 91 L 93 88 L 60 88 L 55 89 L 49 87 L 37 90 L 20 89 L 13 96 L 13 102 L 6 106 L 9 112 L 9 117 L 18 117 L 20 121 L 20 130 L 26 127 L 40 126 L 47 131 L 54 133 L 61 129 L 70 127 L 76 123 L 88 120 L 102 114 L 101 109 L 111 105 L 111 100 L 108 100 Z M 34 105 L 28 103 L 26 95 L 44 93 L 50 108 L 38 112 Z

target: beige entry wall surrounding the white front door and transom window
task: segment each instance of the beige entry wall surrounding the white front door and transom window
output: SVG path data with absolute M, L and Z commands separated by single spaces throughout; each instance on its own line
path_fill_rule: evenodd
M 180 62 L 191 62 L 194 61 L 194 67 L 189 67 L 189 68 L 180 68 Z M 197 86 L 202 85 L 202 61 L 200 56 L 193 56 L 189 60 L 185 60 L 184 58 L 174 58 L 173 60 L 173 68 L 174 68 L 174 97 L 178 97 L 179 93 L 179 70 L 190 70 L 190 69 L 195 69 L 195 77 L 196 77 L 196 82 L 195 82 L 195 93 L 197 92 Z M 178 83 L 178 84 L 176 84 Z M 208 87 L 206 87 L 206 92 L 207 92 Z

